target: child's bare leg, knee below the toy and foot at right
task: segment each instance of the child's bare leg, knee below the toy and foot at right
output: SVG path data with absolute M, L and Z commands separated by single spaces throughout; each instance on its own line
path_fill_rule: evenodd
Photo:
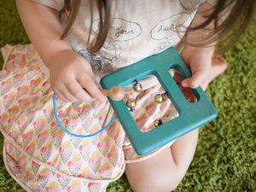
M 202 84 L 206 89 L 212 79 L 223 73 L 226 61 L 218 55 L 212 55 L 211 75 Z M 171 148 L 165 148 L 148 160 L 126 165 L 125 174 L 136 192 L 169 192 L 175 189 L 187 172 L 195 154 L 198 129 L 179 137 Z

